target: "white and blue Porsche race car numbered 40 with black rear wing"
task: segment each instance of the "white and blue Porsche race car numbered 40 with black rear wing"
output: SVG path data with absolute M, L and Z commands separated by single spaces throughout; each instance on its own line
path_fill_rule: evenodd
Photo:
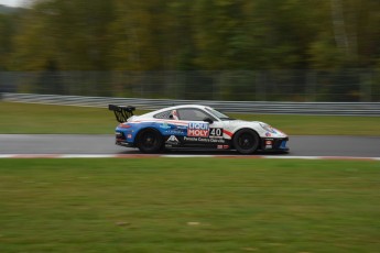
M 289 136 L 260 121 L 243 121 L 206 106 L 169 107 L 133 116 L 134 107 L 109 105 L 119 125 L 116 144 L 138 147 L 142 153 L 165 148 L 236 150 L 240 154 L 257 151 L 289 152 Z

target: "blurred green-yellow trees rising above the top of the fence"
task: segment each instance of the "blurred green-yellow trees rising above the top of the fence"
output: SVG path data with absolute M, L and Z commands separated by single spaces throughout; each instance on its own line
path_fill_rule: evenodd
M 0 18 L 0 47 L 24 70 L 372 67 L 379 12 L 377 0 L 40 0 L 13 32 Z

